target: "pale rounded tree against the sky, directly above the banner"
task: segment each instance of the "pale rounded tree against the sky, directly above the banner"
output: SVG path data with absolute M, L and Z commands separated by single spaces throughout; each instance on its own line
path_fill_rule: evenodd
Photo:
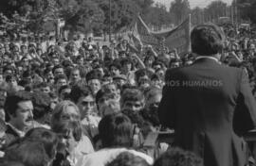
M 188 0 L 174 0 L 171 3 L 170 13 L 174 15 L 174 23 L 180 24 L 190 14 L 190 2 Z

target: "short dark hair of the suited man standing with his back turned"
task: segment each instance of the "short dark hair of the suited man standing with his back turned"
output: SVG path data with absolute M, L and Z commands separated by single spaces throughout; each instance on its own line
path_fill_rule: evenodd
M 192 52 L 201 56 L 221 53 L 224 39 L 224 33 L 217 25 L 197 25 L 191 34 Z

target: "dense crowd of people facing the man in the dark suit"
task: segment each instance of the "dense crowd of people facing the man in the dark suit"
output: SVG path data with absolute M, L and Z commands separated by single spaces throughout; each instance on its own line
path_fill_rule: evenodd
M 220 62 L 245 69 L 255 93 L 256 38 L 223 28 Z M 170 144 L 144 144 L 149 133 L 171 131 L 157 115 L 165 73 L 191 65 L 194 54 L 124 38 L 1 40 L 0 166 L 202 165 Z

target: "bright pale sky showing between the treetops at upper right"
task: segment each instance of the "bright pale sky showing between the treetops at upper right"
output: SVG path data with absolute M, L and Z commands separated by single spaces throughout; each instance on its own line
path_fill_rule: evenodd
M 170 8 L 171 2 L 174 0 L 155 0 L 155 2 L 159 2 L 161 4 L 164 4 L 167 8 Z M 189 0 L 191 4 L 191 8 L 200 7 L 205 8 L 207 7 L 210 2 L 214 0 Z M 222 0 L 225 3 L 231 4 L 232 0 Z

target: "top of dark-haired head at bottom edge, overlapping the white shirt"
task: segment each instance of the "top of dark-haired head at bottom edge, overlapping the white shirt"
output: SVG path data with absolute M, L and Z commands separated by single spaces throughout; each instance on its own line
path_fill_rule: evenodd
M 106 166 L 149 166 L 144 158 L 137 157 L 129 152 L 122 152 L 117 158 L 107 163 Z

